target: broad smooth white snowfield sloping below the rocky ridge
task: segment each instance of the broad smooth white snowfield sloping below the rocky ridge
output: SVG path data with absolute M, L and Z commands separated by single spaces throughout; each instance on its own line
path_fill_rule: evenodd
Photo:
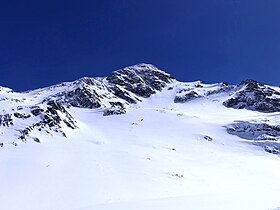
M 70 107 L 67 138 L 0 148 L 0 209 L 279 209 L 279 155 L 225 127 L 279 113 L 226 108 L 224 94 L 174 103 L 176 91 L 123 115 Z

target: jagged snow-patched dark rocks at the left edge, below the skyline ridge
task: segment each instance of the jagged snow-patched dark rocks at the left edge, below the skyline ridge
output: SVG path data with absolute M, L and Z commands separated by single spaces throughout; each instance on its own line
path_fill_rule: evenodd
M 18 129 L 16 127 L 17 124 L 14 123 L 15 119 L 19 124 L 26 124 L 25 121 L 27 119 L 33 123 L 22 129 Z M 17 111 L 13 114 L 0 115 L 0 127 L 10 127 L 10 131 L 15 130 L 15 133 L 18 133 L 14 141 L 9 142 L 15 146 L 20 141 L 27 141 L 28 139 L 40 143 L 39 138 L 36 137 L 36 132 L 34 133 L 33 131 L 45 132 L 47 135 L 58 133 L 66 137 L 62 129 L 62 124 L 65 124 L 71 129 L 77 128 L 73 117 L 56 101 L 49 101 L 47 104 L 38 104 L 31 107 L 18 107 Z M 4 146 L 4 142 L 0 144 Z

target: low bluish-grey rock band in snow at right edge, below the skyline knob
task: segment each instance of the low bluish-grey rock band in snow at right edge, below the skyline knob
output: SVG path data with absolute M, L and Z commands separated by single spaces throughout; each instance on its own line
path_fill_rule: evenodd
M 279 153 L 280 126 L 266 123 L 237 122 L 227 127 L 229 134 L 251 140 L 251 143 L 261 146 L 270 153 Z

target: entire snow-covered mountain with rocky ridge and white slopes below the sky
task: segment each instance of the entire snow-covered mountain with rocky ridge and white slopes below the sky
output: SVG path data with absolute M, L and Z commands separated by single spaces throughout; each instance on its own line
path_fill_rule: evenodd
M 280 207 L 280 88 L 151 64 L 0 87 L 3 209 Z

